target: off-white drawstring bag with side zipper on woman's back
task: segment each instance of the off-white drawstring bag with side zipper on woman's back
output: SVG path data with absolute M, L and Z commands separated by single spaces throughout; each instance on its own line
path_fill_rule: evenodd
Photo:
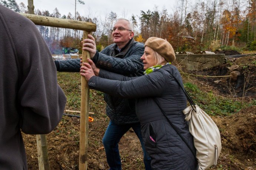
M 189 132 L 194 138 L 198 170 L 205 170 L 217 164 L 222 149 L 220 132 L 205 111 L 194 103 L 193 107 L 196 108 L 196 112 L 190 105 L 183 113 L 186 115 L 185 120 L 189 122 Z

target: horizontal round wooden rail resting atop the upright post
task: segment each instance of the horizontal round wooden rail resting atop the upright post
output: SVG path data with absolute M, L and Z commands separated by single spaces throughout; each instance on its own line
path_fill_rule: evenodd
M 42 15 L 33 15 L 33 14 L 25 14 L 25 13 L 19 13 L 19 14 L 29 18 L 36 25 L 44 25 L 44 26 L 59 27 L 59 28 L 70 28 L 74 30 L 83 30 L 83 31 L 96 31 L 96 24 L 92 22 L 75 21 L 75 20 L 69 20 L 64 18 L 46 17 Z

